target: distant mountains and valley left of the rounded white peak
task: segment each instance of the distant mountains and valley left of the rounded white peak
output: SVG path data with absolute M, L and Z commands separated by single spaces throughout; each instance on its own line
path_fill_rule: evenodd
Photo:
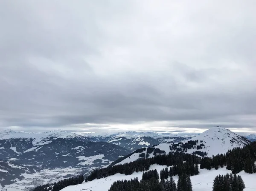
M 61 180 L 67 176 L 73 176 L 77 173 L 87 174 L 95 168 L 110 165 L 111 162 L 139 148 L 159 143 L 173 143 L 189 138 L 187 135 L 181 137 L 169 133 L 135 131 L 115 134 L 84 134 L 61 130 L 46 132 L 1 131 L 0 159 L 23 166 L 33 166 L 37 172 L 41 170 L 41 175 L 37 174 L 39 179 L 52 180 L 51 176 L 58 176 L 57 180 Z M 12 168 L 10 168 L 11 170 Z M 51 175 L 48 170 L 58 171 L 58 173 Z M 5 171 L 0 171 L 0 183 L 2 185 L 8 182 Z M 17 177 L 12 177 L 10 180 L 22 182 L 22 180 L 20 181 L 20 173 L 16 174 Z M 25 179 L 26 175 L 23 174 Z M 9 177 L 11 178 L 11 176 Z M 53 180 L 56 181 L 56 179 Z

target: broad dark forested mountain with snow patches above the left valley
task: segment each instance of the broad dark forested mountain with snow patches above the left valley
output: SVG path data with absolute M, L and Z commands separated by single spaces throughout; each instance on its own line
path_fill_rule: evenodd
M 105 142 L 84 142 L 52 138 L 34 144 L 32 139 L 0 140 L 0 158 L 41 168 L 83 167 L 108 165 L 129 154 L 125 148 Z

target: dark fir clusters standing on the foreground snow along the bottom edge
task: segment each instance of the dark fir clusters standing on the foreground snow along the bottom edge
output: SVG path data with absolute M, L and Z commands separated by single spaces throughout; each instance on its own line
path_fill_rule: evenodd
M 166 173 L 166 171 L 168 168 L 160 172 Z M 240 175 L 236 176 L 236 174 L 216 176 L 212 185 L 212 191 L 243 191 L 244 188 L 244 181 Z M 154 169 L 144 172 L 140 181 L 137 177 L 131 180 L 118 180 L 108 191 L 192 191 L 192 183 L 189 174 L 186 173 L 179 175 L 177 186 L 173 176 L 159 182 L 158 172 Z

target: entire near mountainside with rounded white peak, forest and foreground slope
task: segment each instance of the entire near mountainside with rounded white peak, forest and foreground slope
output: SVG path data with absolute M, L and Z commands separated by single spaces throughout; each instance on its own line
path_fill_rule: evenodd
M 229 175 L 230 182 L 235 182 L 236 177 L 239 177 L 244 181 L 245 188 L 240 190 L 250 191 L 256 188 L 254 181 L 256 179 L 255 146 L 255 143 L 251 143 L 247 138 L 228 129 L 214 127 L 197 137 L 179 143 L 160 143 L 153 147 L 140 148 L 116 160 L 111 166 L 93 171 L 86 177 L 84 183 L 62 187 L 63 189 L 60 190 L 108 191 L 111 188 L 110 190 L 118 191 L 126 188 L 132 191 L 136 190 L 140 184 L 150 187 L 151 189 L 148 190 L 152 191 L 175 190 L 169 189 L 172 188 L 168 186 L 169 176 L 172 177 L 172 181 L 181 186 L 179 181 L 182 178 L 180 177 L 183 177 L 185 173 L 189 174 L 189 181 L 192 185 L 192 189 L 185 190 L 210 191 L 215 177 L 230 173 L 236 174 Z M 160 177 L 157 174 L 160 174 Z M 157 178 L 152 179 L 152 177 Z M 137 181 L 137 183 L 129 187 L 132 181 Z M 223 190 L 235 190 L 236 185 L 232 184 L 231 189 L 229 181 L 227 184 L 230 184 L 230 189 Z M 159 187 L 154 187 L 156 185 Z M 217 184 L 218 186 L 222 186 L 221 182 Z M 44 189 L 50 190 L 51 188 Z M 143 186 L 140 186 L 140 190 L 147 191 Z M 37 191 L 42 191 L 42 189 L 38 188 Z

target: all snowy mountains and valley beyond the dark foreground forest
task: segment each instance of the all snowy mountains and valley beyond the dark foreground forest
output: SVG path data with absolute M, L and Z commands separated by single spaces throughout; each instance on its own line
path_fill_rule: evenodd
M 11 171 L 12 167 L 0 167 L 0 183 L 6 185 L 15 182 L 9 186 L 28 190 L 47 181 L 56 182 L 77 174 L 88 174 L 95 168 L 125 164 L 138 158 L 169 152 L 211 156 L 248 143 L 250 141 L 245 137 L 220 127 L 211 128 L 199 135 L 136 131 L 115 134 L 2 131 L 2 162 L 23 166 L 24 171 L 8 179 L 6 171 L 9 171 L 8 168 Z M 26 180 L 29 182 L 24 182 Z

